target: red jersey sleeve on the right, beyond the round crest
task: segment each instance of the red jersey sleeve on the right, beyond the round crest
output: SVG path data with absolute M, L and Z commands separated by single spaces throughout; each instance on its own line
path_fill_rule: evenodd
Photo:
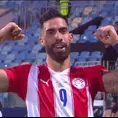
M 87 67 L 84 70 L 86 71 L 86 79 L 88 81 L 89 91 L 94 99 L 97 92 L 105 92 L 102 80 L 102 71 L 107 71 L 107 69 L 102 65 L 98 65 Z

